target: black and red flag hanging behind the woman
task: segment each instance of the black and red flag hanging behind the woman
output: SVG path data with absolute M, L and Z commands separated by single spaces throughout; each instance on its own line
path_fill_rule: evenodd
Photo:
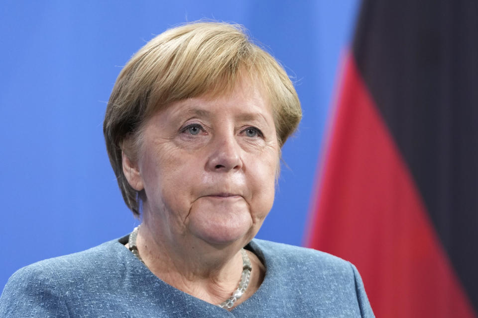
M 376 317 L 478 318 L 478 1 L 365 0 L 306 245 Z

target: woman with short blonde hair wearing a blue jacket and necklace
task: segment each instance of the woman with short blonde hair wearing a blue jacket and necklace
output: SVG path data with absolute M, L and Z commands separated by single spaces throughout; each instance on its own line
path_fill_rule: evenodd
M 373 317 L 332 255 L 253 239 L 301 108 L 284 70 L 237 25 L 147 43 L 106 111 L 108 154 L 139 227 L 17 271 L 1 317 Z

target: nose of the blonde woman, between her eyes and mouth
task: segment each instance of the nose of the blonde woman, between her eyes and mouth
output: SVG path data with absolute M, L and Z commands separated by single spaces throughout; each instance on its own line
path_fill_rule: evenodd
M 211 143 L 208 169 L 216 172 L 239 170 L 242 167 L 240 146 L 233 135 L 215 136 Z

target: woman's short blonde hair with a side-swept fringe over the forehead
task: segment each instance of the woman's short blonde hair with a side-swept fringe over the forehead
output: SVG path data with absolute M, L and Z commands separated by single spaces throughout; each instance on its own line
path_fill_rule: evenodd
M 172 102 L 232 91 L 244 76 L 267 95 L 282 147 L 302 117 L 299 98 L 284 69 L 242 26 L 198 21 L 174 27 L 127 62 L 108 101 L 103 132 L 121 194 L 135 216 L 143 194 L 126 180 L 121 153 L 137 159 L 142 124 Z

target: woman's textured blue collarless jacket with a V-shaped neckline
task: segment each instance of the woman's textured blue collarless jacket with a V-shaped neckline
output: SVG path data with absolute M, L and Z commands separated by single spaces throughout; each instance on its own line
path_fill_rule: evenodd
M 354 265 L 303 247 L 252 240 L 266 275 L 228 312 L 166 284 L 116 239 L 37 262 L 10 277 L 0 317 L 374 317 Z

